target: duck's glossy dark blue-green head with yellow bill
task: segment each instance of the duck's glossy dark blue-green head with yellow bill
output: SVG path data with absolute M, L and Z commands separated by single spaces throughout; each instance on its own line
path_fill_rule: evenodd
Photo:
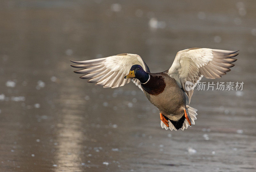
M 124 78 L 136 78 L 139 79 L 141 83 L 145 83 L 147 82 L 149 75 L 143 70 L 143 68 L 139 64 L 135 64 L 132 65 L 129 74 L 126 75 Z

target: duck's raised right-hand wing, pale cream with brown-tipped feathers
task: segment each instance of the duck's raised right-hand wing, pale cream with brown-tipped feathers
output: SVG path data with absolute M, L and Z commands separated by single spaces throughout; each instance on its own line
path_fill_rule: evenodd
M 168 75 L 174 78 L 180 88 L 187 93 L 189 102 L 196 84 L 203 78 L 216 79 L 233 67 L 237 59 L 237 51 L 220 49 L 192 48 L 181 50 L 177 53 Z M 190 81 L 194 84 L 192 90 L 186 90 L 185 83 Z

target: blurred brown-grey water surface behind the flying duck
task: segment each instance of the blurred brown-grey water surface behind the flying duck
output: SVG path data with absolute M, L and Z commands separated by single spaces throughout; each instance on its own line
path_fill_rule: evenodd
M 255 1 L 0 2 L 0 171 L 256 171 Z M 120 53 L 168 69 L 179 50 L 240 49 L 195 91 L 196 125 L 165 131 L 137 86 L 94 86 L 69 60 Z M 213 81 L 203 79 L 203 81 Z

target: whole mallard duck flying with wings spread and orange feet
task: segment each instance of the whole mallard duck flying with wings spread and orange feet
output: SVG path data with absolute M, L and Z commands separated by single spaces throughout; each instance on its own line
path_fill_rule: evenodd
M 124 86 L 132 81 L 146 95 L 148 101 L 159 109 L 160 124 L 166 130 L 187 129 L 195 124 L 196 109 L 189 106 L 196 84 L 203 78 L 216 79 L 225 75 L 237 59 L 237 51 L 208 48 L 181 50 L 170 69 L 151 73 L 147 64 L 137 54 L 118 54 L 86 61 L 71 61 L 83 68 L 82 79 L 104 88 Z M 186 88 L 190 85 L 189 88 Z

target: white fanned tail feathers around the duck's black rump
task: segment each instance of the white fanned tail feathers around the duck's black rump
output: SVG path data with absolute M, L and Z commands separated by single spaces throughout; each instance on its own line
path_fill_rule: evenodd
M 197 115 L 196 111 L 197 111 L 197 109 L 192 108 L 192 107 L 186 105 L 186 112 L 187 112 L 187 114 L 188 114 L 188 118 L 189 118 L 191 124 L 193 124 L 193 125 L 195 125 L 195 120 L 196 120 L 196 115 Z M 177 131 L 177 129 L 174 127 L 174 125 L 171 123 L 171 121 L 168 120 L 168 122 L 169 122 L 169 127 L 167 127 L 167 126 L 163 123 L 163 121 L 161 121 L 161 127 L 162 127 L 162 128 L 165 128 L 165 130 L 170 129 L 171 131 L 172 131 L 172 130 Z M 181 130 L 183 131 L 184 129 L 187 129 L 188 126 L 190 126 L 190 125 L 189 125 L 188 121 L 185 119 L 184 122 L 183 122 L 183 126 L 181 127 Z M 191 126 L 190 126 L 190 127 L 191 127 Z

